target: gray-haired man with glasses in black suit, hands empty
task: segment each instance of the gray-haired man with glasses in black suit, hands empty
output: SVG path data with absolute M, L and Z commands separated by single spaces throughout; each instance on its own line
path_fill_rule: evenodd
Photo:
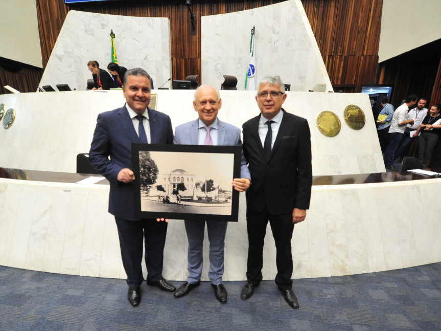
M 298 308 L 292 291 L 291 238 L 294 224 L 305 220 L 311 198 L 311 135 L 306 119 L 282 108 L 287 97 L 283 86 L 279 76 L 265 77 L 256 96 L 261 114 L 242 126 L 251 185 L 246 192 L 248 282 L 241 298 L 250 298 L 262 280 L 269 220 L 276 247 L 275 283 L 286 302 Z

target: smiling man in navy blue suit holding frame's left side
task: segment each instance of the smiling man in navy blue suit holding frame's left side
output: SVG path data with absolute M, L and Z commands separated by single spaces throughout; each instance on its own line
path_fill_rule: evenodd
M 169 116 L 148 107 L 150 76 L 143 69 L 126 72 L 123 93 L 127 101 L 123 107 L 98 115 L 89 161 L 110 182 L 109 213 L 117 222 L 129 285 L 127 298 L 132 306 L 137 306 L 144 281 L 143 240 L 147 284 L 168 292 L 174 292 L 175 287 L 162 276 L 167 223 L 134 215 L 131 144 L 172 144 L 173 130 Z

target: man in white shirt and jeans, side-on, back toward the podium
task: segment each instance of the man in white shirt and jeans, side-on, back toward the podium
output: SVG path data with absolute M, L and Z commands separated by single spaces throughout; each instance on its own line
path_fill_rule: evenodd
M 409 107 L 413 107 L 416 104 L 416 99 L 416 95 L 409 95 L 405 102 L 393 113 L 392 123 L 389 128 L 390 141 L 383 156 L 386 169 L 398 171 L 398 169 L 393 166 L 393 158 L 406 128 L 403 123 L 407 119 L 407 111 L 409 110 Z

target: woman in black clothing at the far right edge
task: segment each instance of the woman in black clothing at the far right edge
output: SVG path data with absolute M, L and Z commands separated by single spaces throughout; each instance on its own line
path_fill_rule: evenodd
M 416 130 L 413 137 L 420 134 L 418 139 L 418 160 L 423 163 L 423 169 L 429 166 L 432 152 L 435 149 L 436 143 L 441 133 L 441 111 L 440 104 L 434 104 L 429 111 L 429 114 L 423 119 L 420 126 Z

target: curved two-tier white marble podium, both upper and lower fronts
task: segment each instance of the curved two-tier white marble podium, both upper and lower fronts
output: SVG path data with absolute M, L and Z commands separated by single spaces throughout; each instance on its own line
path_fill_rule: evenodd
M 192 91 L 153 91 L 157 109 L 173 126 L 197 117 Z M 259 114 L 254 93 L 221 91 L 219 117 L 241 127 Z M 0 128 L 1 167 L 75 172 L 77 153 L 87 152 L 100 112 L 124 104 L 121 91 L 1 95 L 15 108 L 9 129 Z M 353 130 L 343 120 L 348 104 L 365 112 L 366 124 Z M 384 172 L 367 95 L 289 92 L 284 107 L 308 119 L 313 173 L 332 175 Z M 321 135 L 316 117 L 340 117 L 334 138 Z M 313 186 L 305 222 L 292 239 L 293 278 L 376 272 L 441 261 L 441 179 L 378 184 Z M 0 264 L 54 273 L 125 278 L 113 217 L 107 212 L 108 186 L 0 179 Z M 411 202 L 411 204 L 409 204 Z M 224 280 L 245 279 L 247 235 L 245 196 L 239 222 L 228 225 Z M 264 279 L 276 273 L 268 228 Z M 204 241 L 205 261 L 208 242 Z M 171 220 L 164 276 L 187 277 L 183 222 Z M 207 280 L 207 264 L 203 279 Z

